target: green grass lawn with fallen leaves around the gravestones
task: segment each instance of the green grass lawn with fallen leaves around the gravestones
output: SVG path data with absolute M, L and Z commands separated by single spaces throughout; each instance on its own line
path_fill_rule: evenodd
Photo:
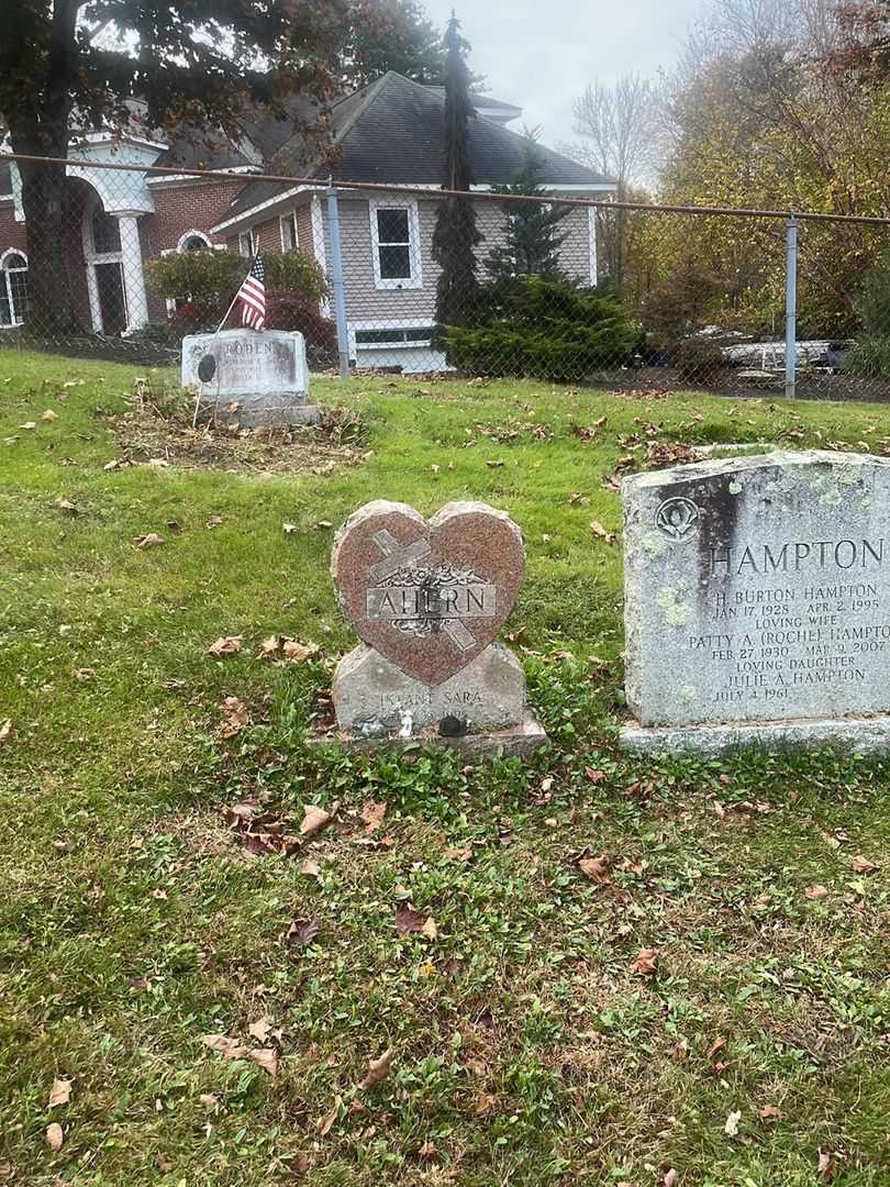
M 288 474 L 145 464 L 113 426 L 140 374 L 164 387 L 0 354 L 0 1183 L 889 1182 L 888 766 L 622 756 L 621 553 L 590 523 L 619 531 L 622 458 L 885 452 L 890 408 L 319 381 L 363 436 Z M 374 497 L 522 527 L 534 761 L 304 749 L 355 642 L 325 525 Z M 319 658 L 260 659 L 275 633 Z M 275 837 L 335 801 L 290 856 L 225 815 Z M 434 926 L 396 934 L 406 903 Z

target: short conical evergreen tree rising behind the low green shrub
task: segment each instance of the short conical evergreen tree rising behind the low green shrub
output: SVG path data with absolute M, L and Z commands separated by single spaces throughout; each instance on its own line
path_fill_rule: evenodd
M 546 197 L 541 184 L 543 177 L 543 153 L 538 144 L 538 129 L 526 129 L 526 146 L 522 166 L 509 185 L 495 185 L 495 193 Z M 516 277 L 545 277 L 561 279 L 559 248 L 566 236 L 559 234 L 559 224 L 568 208 L 543 205 L 536 202 L 504 202 L 507 215 L 507 239 L 494 248 L 485 260 L 485 271 L 494 281 L 508 281 Z

